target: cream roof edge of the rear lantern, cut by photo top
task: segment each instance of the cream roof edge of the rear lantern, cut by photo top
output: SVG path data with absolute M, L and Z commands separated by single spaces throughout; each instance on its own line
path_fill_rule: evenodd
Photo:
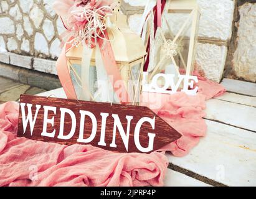
M 194 10 L 198 9 L 199 6 L 196 0 L 171 0 L 169 9 L 174 10 Z

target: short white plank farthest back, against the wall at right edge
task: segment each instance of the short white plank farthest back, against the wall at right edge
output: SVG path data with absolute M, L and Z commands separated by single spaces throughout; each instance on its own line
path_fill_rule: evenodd
M 224 79 L 222 80 L 221 85 L 224 86 L 227 91 L 230 91 L 233 93 L 256 96 L 256 83 Z

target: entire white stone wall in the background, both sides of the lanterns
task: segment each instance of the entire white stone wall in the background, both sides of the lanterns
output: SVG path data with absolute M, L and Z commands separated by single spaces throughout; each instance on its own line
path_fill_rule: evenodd
M 0 2 L 0 62 L 56 74 L 54 60 L 60 53 L 64 27 L 51 9 L 54 0 Z M 214 81 L 222 79 L 224 69 L 227 77 L 255 81 L 255 1 L 197 2 L 201 7 L 198 69 Z M 145 3 L 146 0 L 121 1 L 121 10 L 128 15 L 132 30 L 138 27 Z M 3 53 L 5 49 L 7 52 Z

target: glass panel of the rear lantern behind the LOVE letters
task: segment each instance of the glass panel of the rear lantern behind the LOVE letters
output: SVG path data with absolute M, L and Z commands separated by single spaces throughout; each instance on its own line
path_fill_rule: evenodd
M 162 72 L 172 72 L 176 75 L 178 75 L 178 70 L 192 72 L 198 22 L 199 14 L 195 9 L 170 9 L 164 16 L 164 37 L 168 42 L 173 42 L 174 47 L 173 57 L 169 56 L 162 63 Z M 161 47 L 161 56 L 164 53 L 166 53 L 166 47 L 163 45 Z

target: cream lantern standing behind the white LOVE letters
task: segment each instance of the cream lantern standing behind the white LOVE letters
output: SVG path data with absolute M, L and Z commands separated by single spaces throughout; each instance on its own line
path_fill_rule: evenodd
M 156 73 L 175 73 L 181 70 L 191 75 L 194 70 L 200 12 L 196 0 L 170 0 L 163 14 L 163 27 L 160 28 L 161 53 L 159 63 L 149 76 Z

